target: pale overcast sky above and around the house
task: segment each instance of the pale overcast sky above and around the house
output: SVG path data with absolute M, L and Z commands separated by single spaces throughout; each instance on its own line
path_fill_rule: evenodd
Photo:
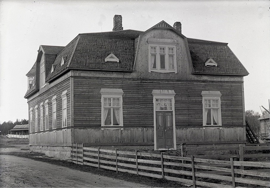
M 66 46 L 79 33 L 145 31 L 164 20 L 182 34 L 229 43 L 249 71 L 245 108 L 260 112 L 270 98 L 270 1 L 8 1 L 0 0 L 0 123 L 28 119 L 26 73 L 39 45 Z M 222 104 L 221 104 L 222 105 Z

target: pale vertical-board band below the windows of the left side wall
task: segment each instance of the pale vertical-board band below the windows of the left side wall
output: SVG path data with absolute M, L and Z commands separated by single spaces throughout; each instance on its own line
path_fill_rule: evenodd
M 57 144 L 70 144 L 71 143 L 71 129 L 46 131 L 39 133 L 29 134 L 29 144 L 44 144 L 44 145 L 57 145 Z

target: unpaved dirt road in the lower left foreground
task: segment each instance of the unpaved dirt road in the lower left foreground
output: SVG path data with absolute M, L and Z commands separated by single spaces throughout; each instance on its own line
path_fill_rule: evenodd
M 23 181 L 22 181 L 23 180 Z M 21 182 L 20 182 L 21 181 Z M 0 187 L 148 187 L 13 155 L 0 155 Z

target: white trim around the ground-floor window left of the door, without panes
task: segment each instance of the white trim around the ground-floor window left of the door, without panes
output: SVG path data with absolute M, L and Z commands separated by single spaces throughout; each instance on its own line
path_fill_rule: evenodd
M 100 90 L 100 94 L 101 94 L 101 130 L 105 129 L 111 129 L 111 130 L 115 130 L 115 129 L 121 129 L 124 130 L 124 128 L 115 128 L 115 127 L 123 127 L 123 90 L 122 89 L 101 89 Z M 120 125 L 114 125 L 114 126 L 105 126 L 104 125 L 104 107 L 103 107 L 103 99 L 104 98 L 120 98 Z

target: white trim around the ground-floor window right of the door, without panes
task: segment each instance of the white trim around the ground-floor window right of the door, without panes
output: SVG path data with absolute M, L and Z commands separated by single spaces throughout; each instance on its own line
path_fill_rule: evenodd
M 201 96 L 202 96 L 202 104 L 203 104 L 203 126 L 204 127 L 216 127 L 219 128 L 222 126 L 222 119 L 221 119 L 221 93 L 220 91 L 202 91 L 201 92 Z M 219 124 L 218 125 L 207 125 L 206 124 L 206 118 L 205 118 L 205 99 L 218 99 L 219 101 L 219 109 L 218 109 L 218 118 L 219 118 Z

